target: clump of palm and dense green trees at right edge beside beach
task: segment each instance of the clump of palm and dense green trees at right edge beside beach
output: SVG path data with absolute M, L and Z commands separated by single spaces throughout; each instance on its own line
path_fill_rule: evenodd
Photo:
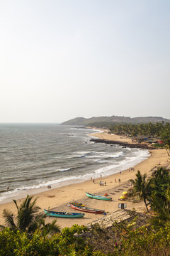
M 151 221 L 155 228 L 165 226 L 170 220 L 169 170 L 159 167 L 148 180 L 145 174 L 143 176 L 140 174 L 140 171 L 137 171 L 136 176 L 135 180 L 130 180 L 133 188 L 128 191 L 128 196 L 138 195 L 143 199 L 146 207 L 147 204 L 151 206 L 156 214 Z

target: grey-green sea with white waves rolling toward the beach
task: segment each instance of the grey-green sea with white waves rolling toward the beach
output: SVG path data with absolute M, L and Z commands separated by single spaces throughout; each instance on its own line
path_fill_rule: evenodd
M 91 142 L 101 132 L 60 124 L 0 124 L 0 203 L 118 173 L 147 159 L 143 149 Z

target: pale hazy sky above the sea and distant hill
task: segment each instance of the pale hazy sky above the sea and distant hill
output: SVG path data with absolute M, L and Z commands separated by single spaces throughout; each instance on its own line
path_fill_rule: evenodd
M 0 122 L 170 119 L 169 0 L 0 0 Z

